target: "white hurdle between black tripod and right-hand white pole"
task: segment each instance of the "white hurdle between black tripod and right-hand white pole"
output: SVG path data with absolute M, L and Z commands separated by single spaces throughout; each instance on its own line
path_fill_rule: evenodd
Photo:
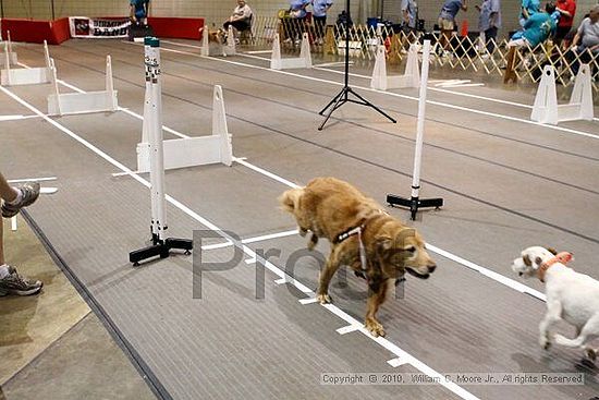
M 407 52 L 407 63 L 405 72 L 399 76 L 387 76 L 387 59 L 384 57 L 384 46 L 377 47 L 377 56 L 375 59 L 375 70 L 372 71 L 372 80 L 370 87 L 378 90 L 387 90 L 394 88 L 418 87 L 420 86 L 420 72 L 418 68 L 418 45 L 409 45 Z

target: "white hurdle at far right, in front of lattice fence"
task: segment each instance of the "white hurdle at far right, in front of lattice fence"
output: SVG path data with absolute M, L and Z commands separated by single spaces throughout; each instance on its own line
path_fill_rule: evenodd
M 592 118 L 592 86 L 589 65 L 580 65 L 570 102 L 566 105 L 558 105 L 555 71 L 553 65 L 545 65 L 530 120 L 555 125 L 562 121 L 591 121 Z

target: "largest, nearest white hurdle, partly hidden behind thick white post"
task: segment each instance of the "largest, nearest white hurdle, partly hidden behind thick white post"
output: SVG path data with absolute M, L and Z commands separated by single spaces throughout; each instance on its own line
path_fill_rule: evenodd
M 146 106 L 148 102 L 146 101 Z M 149 121 L 149 108 L 144 108 L 144 129 L 142 143 L 137 144 L 137 171 L 150 171 L 150 144 L 146 121 Z M 233 149 L 231 135 L 227 126 L 222 87 L 215 86 L 212 100 L 212 134 L 209 136 L 175 138 L 163 141 L 164 170 L 223 163 L 231 167 Z

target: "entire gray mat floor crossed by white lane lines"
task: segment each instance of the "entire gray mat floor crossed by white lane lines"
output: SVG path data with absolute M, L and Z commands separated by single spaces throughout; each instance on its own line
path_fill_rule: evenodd
M 39 46 L 19 51 L 25 64 L 40 64 Z M 132 268 L 129 252 L 148 239 L 149 199 L 139 184 L 147 177 L 111 174 L 136 168 L 142 123 L 132 113 L 143 113 L 142 47 L 72 40 L 50 51 L 59 78 L 84 90 L 102 87 L 103 59 L 110 53 L 120 106 L 129 113 L 37 114 L 0 122 L 0 159 L 9 160 L 1 168 L 11 178 L 59 178 L 59 193 L 39 202 L 30 216 L 135 353 L 159 397 L 586 400 L 599 393 L 597 369 L 582 364 L 578 351 L 538 348 L 545 304 L 516 290 L 516 283 L 527 284 L 529 293 L 542 286 L 518 281 L 509 268 L 523 247 L 547 244 L 575 253 L 574 268 L 599 278 L 594 257 L 599 251 L 597 120 L 534 124 L 529 88 L 431 82 L 421 195 L 441 196 L 445 205 L 423 213 L 413 225 L 438 249 L 439 268 L 426 282 L 408 280 L 404 299 L 384 304 L 380 317 L 388 337 L 374 340 L 359 329 L 337 331 L 360 326 L 362 281 L 335 280 L 334 305 L 321 307 L 298 302 L 316 288 L 318 263 L 313 258 L 288 270 L 295 281 L 289 276 L 279 280 L 289 259 L 305 249 L 296 235 L 254 242 L 231 268 L 201 271 L 201 299 L 199 271 L 192 262 L 197 254 Z M 346 105 L 318 133 L 318 111 L 341 88 L 339 69 L 272 72 L 264 54 L 206 59 L 198 53 L 162 43 L 163 123 L 192 136 L 207 134 L 212 87 L 221 84 L 234 154 L 247 160 L 232 168 L 167 172 L 173 237 L 218 228 L 244 239 L 293 230 L 292 218 L 277 209 L 276 198 L 288 187 L 283 179 L 303 184 L 334 175 L 381 204 L 389 192 L 408 194 L 417 90 L 370 90 L 363 77 L 368 71 L 354 69 L 352 86 L 399 123 Z M 461 72 L 451 77 L 473 78 Z M 448 72 L 432 69 L 431 78 L 447 80 Z M 5 114 L 42 114 L 48 92 L 47 85 L 4 88 L 0 104 Z M 166 138 L 172 137 L 166 132 Z M 396 208 L 389 211 L 408 216 Z M 272 249 L 280 254 L 267 264 L 264 291 L 256 292 L 260 268 L 250 260 Z M 327 254 L 326 243 L 318 249 Z M 215 263 L 230 256 L 230 249 L 203 252 L 204 259 Z M 570 327 L 555 329 L 572 335 Z M 395 359 L 404 364 L 387 363 Z M 418 371 L 429 376 L 582 373 L 585 385 L 319 385 L 320 374 L 328 372 Z

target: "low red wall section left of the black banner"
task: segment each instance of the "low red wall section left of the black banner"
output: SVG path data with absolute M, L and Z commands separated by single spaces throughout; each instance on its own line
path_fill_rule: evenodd
M 11 32 L 11 40 L 44 43 L 60 45 L 71 38 L 69 33 L 69 19 L 56 21 L 33 21 L 33 20 L 2 20 L 2 37 L 7 39 L 7 32 Z

